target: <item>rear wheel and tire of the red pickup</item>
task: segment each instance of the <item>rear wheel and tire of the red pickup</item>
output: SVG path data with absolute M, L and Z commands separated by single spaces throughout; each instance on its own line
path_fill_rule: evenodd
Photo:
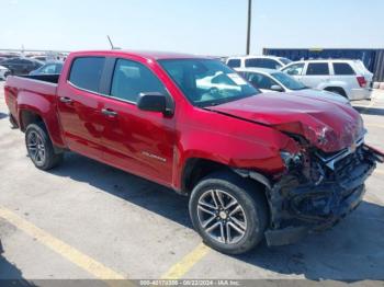
M 63 153 L 55 152 L 54 145 L 42 123 L 26 127 L 25 146 L 30 159 L 39 170 L 50 170 L 63 161 Z

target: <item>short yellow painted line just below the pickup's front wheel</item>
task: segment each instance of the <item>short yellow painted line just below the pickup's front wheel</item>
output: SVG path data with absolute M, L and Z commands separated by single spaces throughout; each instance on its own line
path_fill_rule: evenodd
M 169 271 L 161 276 L 161 279 L 180 279 L 187 274 L 197 262 L 200 262 L 206 254 L 210 248 L 200 243 L 193 251 L 187 254 L 181 261 L 176 263 Z

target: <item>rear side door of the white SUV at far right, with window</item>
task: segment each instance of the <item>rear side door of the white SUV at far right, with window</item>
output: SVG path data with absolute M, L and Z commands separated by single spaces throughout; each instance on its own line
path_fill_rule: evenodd
M 318 88 L 319 85 L 329 82 L 329 64 L 327 61 L 308 62 L 301 82 L 310 88 Z

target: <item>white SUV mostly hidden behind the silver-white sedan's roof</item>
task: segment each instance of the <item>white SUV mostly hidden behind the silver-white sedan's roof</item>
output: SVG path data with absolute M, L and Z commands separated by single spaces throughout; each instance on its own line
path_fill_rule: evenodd
M 279 70 L 291 62 L 287 58 L 275 56 L 238 56 L 229 57 L 226 65 L 233 69 L 266 68 Z

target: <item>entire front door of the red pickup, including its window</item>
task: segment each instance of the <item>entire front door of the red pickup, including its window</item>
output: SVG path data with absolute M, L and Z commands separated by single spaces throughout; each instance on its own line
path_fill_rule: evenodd
M 109 96 L 103 100 L 103 160 L 168 185 L 173 170 L 174 117 L 136 106 L 140 93 L 168 94 L 167 89 L 145 62 L 116 59 L 111 72 Z

